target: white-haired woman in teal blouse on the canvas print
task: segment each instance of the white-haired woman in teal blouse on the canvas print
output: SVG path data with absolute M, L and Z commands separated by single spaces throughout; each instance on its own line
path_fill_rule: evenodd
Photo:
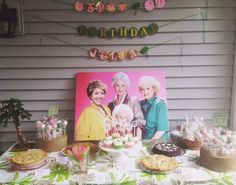
M 165 101 L 157 97 L 159 82 L 152 76 L 143 76 L 138 81 L 138 87 L 144 98 L 140 102 L 146 119 L 143 139 L 169 139 L 168 109 Z

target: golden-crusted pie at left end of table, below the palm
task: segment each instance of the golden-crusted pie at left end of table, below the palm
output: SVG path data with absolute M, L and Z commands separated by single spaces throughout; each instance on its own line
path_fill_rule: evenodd
M 17 152 L 11 157 L 11 162 L 15 168 L 27 170 L 44 165 L 47 159 L 47 152 L 41 149 L 30 149 Z

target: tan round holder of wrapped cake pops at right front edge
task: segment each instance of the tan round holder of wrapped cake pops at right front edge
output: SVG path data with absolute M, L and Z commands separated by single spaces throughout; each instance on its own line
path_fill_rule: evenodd
M 217 172 L 236 171 L 236 133 L 215 128 L 204 134 L 200 165 Z

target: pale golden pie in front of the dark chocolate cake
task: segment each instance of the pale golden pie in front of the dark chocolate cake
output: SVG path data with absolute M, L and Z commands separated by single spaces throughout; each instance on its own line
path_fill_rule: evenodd
M 144 157 L 140 164 L 143 168 L 155 172 L 167 172 L 178 167 L 174 158 L 158 154 Z

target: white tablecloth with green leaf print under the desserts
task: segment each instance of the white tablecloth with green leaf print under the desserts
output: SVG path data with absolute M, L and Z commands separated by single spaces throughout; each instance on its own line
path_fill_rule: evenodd
M 123 184 L 123 185 L 234 185 L 236 172 L 217 173 L 198 165 L 199 151 L 186 150 L 176 157 L 179 167 L 169 173 L 148 173 L 137 162 L 149 155 L 150 143 L 124 152 L 119 160 L 106 152 L 100 152 L 97 161 L 90 162 L 87 175 L 72 175 L 67 168 L 67 157 L 61 152 L 49 154 L 49 162 L 38 169 L 14 171 L 9 162 L 11 152 L 0 157 L 0 185 L 31 184 Z

